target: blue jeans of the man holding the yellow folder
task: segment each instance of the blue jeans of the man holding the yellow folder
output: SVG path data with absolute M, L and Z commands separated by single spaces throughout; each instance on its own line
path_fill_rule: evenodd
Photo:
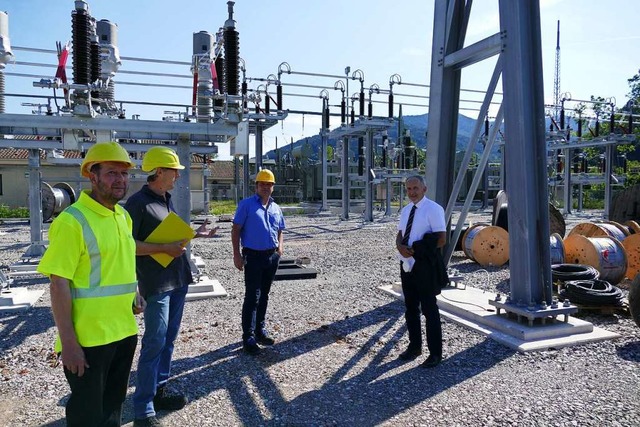
M 148 418 L 156 414 L 153 397 L 156 388 L 169 380 L 173 343 L 180 330 L 188 288 L 183 286 L 147 298 L 136 391 L 133 393 L 135 418 Z

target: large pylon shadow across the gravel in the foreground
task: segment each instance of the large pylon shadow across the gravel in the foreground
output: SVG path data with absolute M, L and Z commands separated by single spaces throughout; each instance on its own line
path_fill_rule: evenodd
M 174 378 L 189 390 L 192 401 L 224 390 L 243 425 L 375 425 L 446 393 L 515 353 L 487 339 L 448 356 L 434 369 L 421 368 L 418 361 L 405 364 L 391 355 L 405 332 L 403 315 L 403 306 L 393 302 L 278 342 L 258 357 L 243 354 L 240 343 L 229 345 L 198 357 L 176 360 Z M 399 323 L 402 326 L 398 327 Z M 283 379 L 278 378 L 277 372 L 266 370 L 325 346 L 349 344 L 348 335 L 362 333 L 364 328 L 374 328 L 375 333 L 362 345 L 345 346 L 345 355 L 351 355 L 346 363 L 331 366 L 331 356 L 322 362 L 318 353 L 317 366 L 302 366 L 301 369 L 317 371 L 317 380 L 325 380 L 319 388 L 292 400 L 285 395 L 295 393 L 283 390 L 287 389 L 287 382 L 297 381 L 295 374 L 283 374 Z M 383 340 L 389 333 L 393 336 Z M 367 361 L 364 368 L 363 360 Z M 308 389 L 295 384 L 292 387 Z M 264 405 L 271 416 L 265 417 L 256 402 Z

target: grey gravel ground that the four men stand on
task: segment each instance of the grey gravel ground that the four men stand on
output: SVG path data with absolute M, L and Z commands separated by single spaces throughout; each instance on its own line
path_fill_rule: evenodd
M 193 253 L 229 296 L 187 303 L 169 388 L 185 392 L 190 403 L 161 412 L 162 422 L 640 425 L 640 328 L 625 313 L 580 316 L 619 339 L 525 354 L 443 317 L 443 363 L 431 370 L 419 366 L 424 356 L 401 363 L 408 343 L 403 303 L 378 289 L 399 280 L 396 221 L 287 217 L 285 256 L 310 257 L 319 274 L 274 284 L 268 322 L 277 343 L 258 357 L 241 352 L 243 279 L 233 268 L 231 224 L 219 223 L 217 238 L 196 241 Z M 24 222 L 0 226 L 3 267 L 20 259 L 29 239 Z M 451 266 L 469 286 L 508 289 L 506 267 L 486 274 L 461 252 Z M 14 286 L 47 289 L 47 281 L 21 279 Z M 0 337 L 0 424 L 64 425 L 69 389 L 62 368 L 50 366 L 55 328 L 48 292 L 28 311 L 0 314 Z M 130 398 L 124 423 L 132 423 Z

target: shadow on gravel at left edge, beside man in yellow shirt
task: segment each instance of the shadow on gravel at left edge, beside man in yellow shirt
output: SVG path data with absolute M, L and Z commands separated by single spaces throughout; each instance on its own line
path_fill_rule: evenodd
M 28 336 L 40 335 L 53 326 L 53 316 L 49 307 L 32 307 L 25 311 L 1 314 L 0 353 L 19 346 Z M 27 327 L 28 335 L 20 332 L 20 329 Z

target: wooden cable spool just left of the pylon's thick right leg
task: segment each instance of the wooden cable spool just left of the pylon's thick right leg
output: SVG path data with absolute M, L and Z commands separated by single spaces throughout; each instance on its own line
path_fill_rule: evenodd
M 489 224 L 475 224 L 462 239 L 462 250 L 482 266 L 499 267 L 509 261 L 509 233 Z

